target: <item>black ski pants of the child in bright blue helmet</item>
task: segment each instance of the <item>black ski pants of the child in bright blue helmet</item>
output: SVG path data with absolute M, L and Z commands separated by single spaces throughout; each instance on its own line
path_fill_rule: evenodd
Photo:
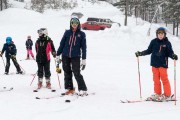
M 10 57 L 6 57 L 6 67 L 5 67 L 5 72 L 9 73 L 9 68 L 10 68 L 10 65 L 11 65 L 10 59 L 13 61 L 14 66 L 15 66 L 16 69 L 17 69 L 17 72 L 20 72 L 21 69 L 20 69 L 20 67 L 19 67 L 19 64 L 18 64 L 16 58 L 10 58 Z

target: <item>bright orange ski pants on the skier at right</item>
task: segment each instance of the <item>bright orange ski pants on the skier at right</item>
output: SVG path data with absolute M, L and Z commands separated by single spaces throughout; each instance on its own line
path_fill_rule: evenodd
M 161 82 L 163 84 L 164 95 L 170 96 L 171 95 L 171 86 L 168 80 L 167 68 L 155 68 L 152 67 L 153 72 L 153 81 L 154 81 L 154 93 L 162 94 L 161 90 Z M 161 81 L 160 81 L 161 80 Z

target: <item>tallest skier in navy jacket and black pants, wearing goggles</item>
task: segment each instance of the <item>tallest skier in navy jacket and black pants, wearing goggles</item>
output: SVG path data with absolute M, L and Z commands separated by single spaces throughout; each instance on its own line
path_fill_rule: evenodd
M 80 64 L 82 51 L 82 64 Z M 81 31 L 80 21 L 78 18 L 71 18 L 70 29 L 66 30 L 57 51 L 56 61 L 60 60 L 62 54 L 62 66 L 64 70 L 65 80 L 65 94 L 73 94 L 75 89 L 73 87 L 72 72 L 78 84 L 79 95 L 87 95 L 87 87 L 83 76 L 80 73 L 86 66 L 86 35 Z

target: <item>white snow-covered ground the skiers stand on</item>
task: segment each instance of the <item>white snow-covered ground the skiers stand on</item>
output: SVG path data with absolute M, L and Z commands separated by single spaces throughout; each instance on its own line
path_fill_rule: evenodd
M 14 6 L 21 6 L 13 2 Z M 83 6 L 83 7 L 82 7 Z M 111 29 L 104 31 L 84 31 L 87 35 L 87 66 L 82 74 L 88 87 L 88 92 L 96 95 L 78 98 L 71 103 L 65 103 L 72 97 L 59 97 L 49 100 L 37 100 L 36 96 L 57 96 L 64 91 L 63 73 L 59 75 L 61 89 L 58 85 L 55 72 L 54 59 L 51 57 L 51 81 L 52 87 L 57 91 L 50 92 L 42 89 L 38 93 L 32 92 L 37 87 L 37 77 L 33 84 L 31 74 L 36 73 L 37 65 L 33 60 L 20 61 L 26 58 L 25 41 L 28 35 L 35 42 L 37 30 L 46 27 L 49 36 L 54 41 L 56 49 L 64 34 L 69 28 L 69 20 L 72 12 L 82 12 L 87 17 L 111 18 L 121 23 L 121 27 L 113 25 Z M 135 52 L 147 49 L 150 41 L 155 38 L 155 30 L 158 25 L 153 24 L 151 36 L 147 37 L 149 23 L 128 18 L 128 26 L 123 26 L 123 14 L 113 6 L 102 3 L 91 5 L 81 2 L 80 7 L 68 11 L 51 11 L 44 14 L 22 8 L 10 8 L 0 12 L 0 50 L 7 36 L 13 38 L 17 47 L 17 59 L 26 75 L 16 75 L 16 69 L 11 62 L 11 75 L 4 75 L 4 65 L 0 58 L 0 88 L 14 87 L 10 92 L 0 92 L 1 120 L 179 120 L 180 116 L 180 87 L 179 64 L 177 61 L 177 105 L 174 102 L 141 102 L 122 104 L 120 99 L 140 100 L 138 66 Z M 177 55 L 180 55 L 180 40 L 172 35 L 167 35 Z M 33 49 L 35 53 L 35 50 Z M 5 57 L 4 57 L 5 60 Z M 150 56 L 140 57 L 140 72 L 142 84 L 142 99 L 153 93 L 152 72 Z M 169 80 L 172 93 L 174 92 L 174 64 L 169 59 Z M 77 88 L 74 79 L 74 85 Z

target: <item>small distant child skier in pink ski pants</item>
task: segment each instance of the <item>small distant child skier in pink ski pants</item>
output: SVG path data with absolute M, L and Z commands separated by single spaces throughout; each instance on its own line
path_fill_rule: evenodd
M 27 58 L 26 58 L 26 60 L 29 59 L 29 55 L 31 55 L 32 58 L 34 59 L 34 55 L 33 55 L 33 52 L 32 52 L 33 41 L 31 40 L 30 35 L 27 37 L 25 45 L 26 45 L 26 49 L 27 49 Z

